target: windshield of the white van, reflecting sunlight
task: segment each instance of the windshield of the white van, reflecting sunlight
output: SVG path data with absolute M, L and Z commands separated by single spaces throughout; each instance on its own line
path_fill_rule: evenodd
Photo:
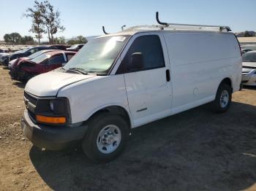
M 108 74 L 110 67 L 129 36 L 107 36 L 92 39 L 63 67 L 80 69 L 83 73 Z

